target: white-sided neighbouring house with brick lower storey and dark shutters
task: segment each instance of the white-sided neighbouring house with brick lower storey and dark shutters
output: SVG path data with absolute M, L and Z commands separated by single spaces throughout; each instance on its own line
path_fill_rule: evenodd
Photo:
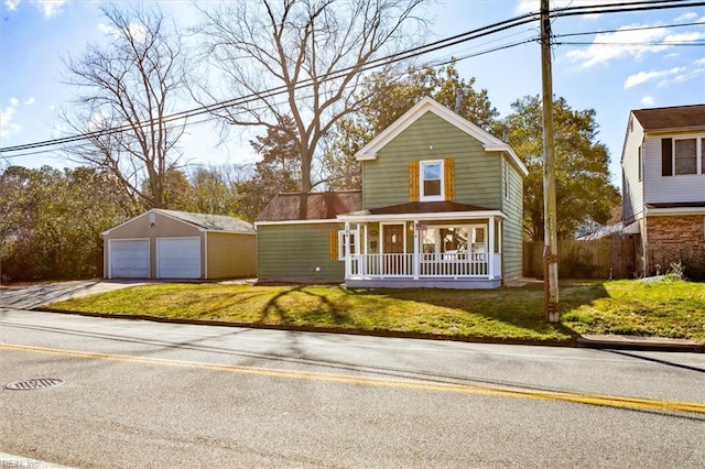
M 705 105 L 631 111 L 621 155 L 626 234 L 639 275 L 682 262 L 705 279 Z

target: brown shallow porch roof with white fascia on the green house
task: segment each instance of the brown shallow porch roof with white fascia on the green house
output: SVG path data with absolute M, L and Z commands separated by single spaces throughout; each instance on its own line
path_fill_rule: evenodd
M 338 215 L 343 221 L 447 220 L 456 218 L 507 218 L 501 210 L 454 201 L 412 201 Z

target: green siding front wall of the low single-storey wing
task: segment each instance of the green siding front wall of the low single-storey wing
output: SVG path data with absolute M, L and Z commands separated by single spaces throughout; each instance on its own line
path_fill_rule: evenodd
M 328 246 L 330 230 L 343 228 L 335 222 L 258 226 L 259 281 L 343 282 L 345 262 L 332 261 Z

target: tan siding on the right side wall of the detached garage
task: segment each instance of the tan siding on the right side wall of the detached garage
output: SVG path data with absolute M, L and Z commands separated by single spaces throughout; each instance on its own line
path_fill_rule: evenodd
M 207 233 L 208 279 L 257 276 L 257 236 Z

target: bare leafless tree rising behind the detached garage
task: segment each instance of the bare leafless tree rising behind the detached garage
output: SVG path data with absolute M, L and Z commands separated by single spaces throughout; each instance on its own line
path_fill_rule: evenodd
M 160 10 L 109 6 L 102 12 L 110 44 L 64 61 L 78 97 L 63 120 L 93 135 L 68 152 L 115 174 L 135 200 L 164 207 L 165 178 L 178 167 L 184 132 L 184 122 L 165 121 L 186 89 L 181 39 Z

